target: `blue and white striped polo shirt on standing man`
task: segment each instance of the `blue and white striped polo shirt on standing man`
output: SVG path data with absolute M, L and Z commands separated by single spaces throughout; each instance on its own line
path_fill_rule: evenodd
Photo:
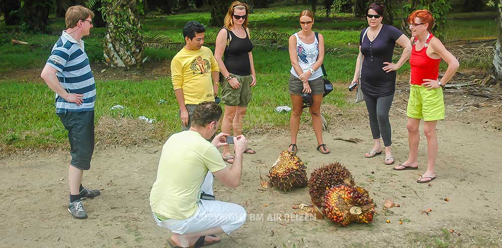
M 84 52 L 84 41 L 77 42 L 71 35 L 63 31 L 52 48 L 46 65 L 57 70 L 56 76 L 61 87 L 68 93 L 84 95 L 84 103 L 80 106 L 70 103 L 56 94 L 56 113 L 82 112 L 94 110 L 96 101 L 96 85 L 89 65 L 89 58 Z

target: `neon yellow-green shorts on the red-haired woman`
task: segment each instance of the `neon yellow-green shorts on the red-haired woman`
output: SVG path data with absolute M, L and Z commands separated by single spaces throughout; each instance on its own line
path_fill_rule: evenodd
M 443 89 L 427 90 L 419 85 L 411 85 L 410 98 L 406 115 L 424 121 L 442 120 L 445 118 L 445 102 Z

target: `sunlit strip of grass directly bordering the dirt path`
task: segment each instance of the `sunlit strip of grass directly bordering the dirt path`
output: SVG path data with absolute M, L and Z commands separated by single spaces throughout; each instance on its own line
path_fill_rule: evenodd
M 171 53 L 166 51 L 166 53 Z M 257 87 L 253 89 L 253 101 L 249 105 L 244 130 L 269 127 L 286 128 L 289 114 L 275 113 L 277 106 L 291 106 L 288 94 L 290 62 L 288 54 L 275 49 L 256 49 Z M 347 81 L 352 75 L 350 61 L 326 59 L 328 74 L 333 81 Z M 355 63 L 355 62 L 354 62 Z M 351 72 L 353 73 L 353 72 Z M 160 123 L 161 134 L 168 135 L 180 130 L 178 105 L 169 77 L 159 80 L 106 80 L 96 82 L 97 100 L 96 122 L 101 116 L 137 119 L 144 115 Z M 54 113 L 54 93 L 45 84 L 6 80 L 0 82 L 0 142 L 19 148 L 50 148 L 64 144 L 66 131 Z M 345 92 L 334 91 L 324 98 L 326 105 L 344 108 Z M 161 101 L 163 100 L 163 101 Z M 115 105 L 125 106 L 121 110 L 111 110 Z M 37 109 L 35 111 L 35 109 Z M 303 121 L 309 121 L 304 116 Z M 327 115 L 326 118 L 335 116 Z

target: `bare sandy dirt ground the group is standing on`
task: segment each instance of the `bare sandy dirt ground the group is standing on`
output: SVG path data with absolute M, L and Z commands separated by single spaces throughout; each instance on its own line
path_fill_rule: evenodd
M 390 114 L 396 163 L 408 154 L 407 95 L 405 84 L 398 85 Z M 415 183 L 427 160 L 423 132 L 420 169 L 395 172 L 383 164 L 383 155 L 364 157 L 372 139 L 363 104 L 344 112 L 323 108 L 340 112 L 324 133 L 332 151 L 328 155 L 315 150 L 310 122 L 302 123 L 307 131 L 299 136 L 298 155 L 308 161 L 308 173 L 324 163 L 344 164 L 378 205 L 374 222 L 366 225 L 342 228 L 293 215 L 293 204 L 310 202 L 308 189 L 263 190 L 259 179 L 259 171 L 266 175 L 290 143 L 287 132 L 252 134 L 250 145 L 258 154 L 245 156 L 240 186 L 228 189 L 218 181 L 214 185 L 217 198 L 243 205 L 248 219 L 211 247 L 501 247 L 502 102 L 461 91 L 445 93 L 445 102 L 447 119 L 437 128 L 437 179 L 430 186 Z M 66 210 L 68 152 L 0 160 L 0 247 L 164 247 L 171 233 L 156 225 L 149 206 L 160 150 L 158 144 L 98 147 L 84 185 L 100 189 L 101 195 L 85 200 L 86 220 L 73 219 Z M 400 208 L 383 211 L 387 198 Z M 421 213 L 429 208 L 428 215 Z M 399 224 L 400 218 L 409 222 Z

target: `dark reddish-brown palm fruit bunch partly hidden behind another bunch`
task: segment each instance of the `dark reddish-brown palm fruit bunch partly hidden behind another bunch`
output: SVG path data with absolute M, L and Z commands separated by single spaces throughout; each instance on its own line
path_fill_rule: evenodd
M 324 166 L 314 169 L 310 174 L 308 181 L 308 193 L 318 208 L 322 208 L 322 201 L 326 188 L 331 188 L 339 184 L 354 185 L 352 174 L 342 166 L 339 162 L 325 164 Z

